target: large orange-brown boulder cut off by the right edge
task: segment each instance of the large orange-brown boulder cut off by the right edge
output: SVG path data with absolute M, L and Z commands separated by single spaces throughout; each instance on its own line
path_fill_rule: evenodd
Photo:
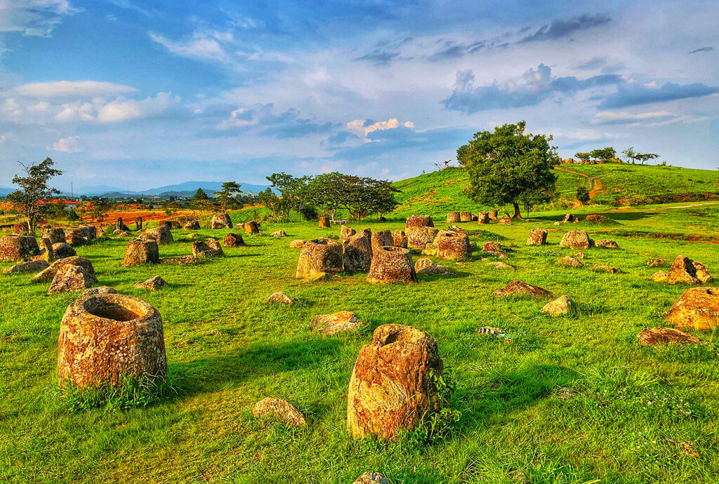
M 679 330 L 711 330 L 719 326 L 719 287 L 687 289 L 664 321 Z

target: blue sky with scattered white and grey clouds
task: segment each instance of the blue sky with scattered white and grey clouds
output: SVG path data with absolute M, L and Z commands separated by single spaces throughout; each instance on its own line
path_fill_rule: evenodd
M 716 2 L 0 1 L 0 185 L 398 180 L 521 119 L 716 169 Z

